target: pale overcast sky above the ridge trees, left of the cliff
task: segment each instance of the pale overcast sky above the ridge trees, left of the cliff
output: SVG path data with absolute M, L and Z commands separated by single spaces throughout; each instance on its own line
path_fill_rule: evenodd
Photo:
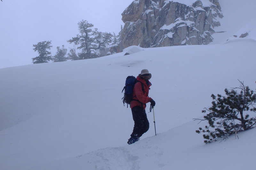
M 118 33 L 121 13 L 133 0 L 3 0 L 0 1 L 0 68 L 32 64 L 38 56 L 33 44 L 52 41 L 73 48 L 67 40 L 78 33 L 77 23 L 87 20 L 101 32 Z

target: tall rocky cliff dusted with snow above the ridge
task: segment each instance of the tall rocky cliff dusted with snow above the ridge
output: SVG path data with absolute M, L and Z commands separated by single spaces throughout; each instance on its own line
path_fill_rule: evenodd
M 176 2 L 177 1 L 177 2 Z M 218 0 L 134 0 L 122 13 L 125 23 L 116 52 L 143 48 L 201 45 L 212 41 L 222 18 Z

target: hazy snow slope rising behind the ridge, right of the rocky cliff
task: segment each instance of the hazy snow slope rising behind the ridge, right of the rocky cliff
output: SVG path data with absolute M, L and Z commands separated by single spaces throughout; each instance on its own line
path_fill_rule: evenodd
M 210 44 L 221 44 L 233 39 L 251 39 L 256 41 L 256 1 L 247 0 L 219 0 L 223 18 L 220 19 L 221 26 L 215 27 L 216 33 L 212 35 L 213 42 Z M 239 38 L 243 33 L 249 33 L 245 38 Z M 235 38 L 233 35 L 238 36 Z

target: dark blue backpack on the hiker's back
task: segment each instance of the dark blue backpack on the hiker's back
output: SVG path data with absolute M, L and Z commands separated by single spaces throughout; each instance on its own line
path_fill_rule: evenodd
M 122 90 L 122 92 L 124 91 L 124 97 L 122 99 L 123 99 L 123 103 L 127 104 L 127 108 L 128 108 L 128 104 L 130 104 L 133 99 L 133 88 L 137 82 L 139 81 L 134 76 L 128 76 L 125 80 L 125 86 Z M 141 86 L 142 86 L 142 91 L 144 92 L 144 87 L 142 83 L 141 83 Z

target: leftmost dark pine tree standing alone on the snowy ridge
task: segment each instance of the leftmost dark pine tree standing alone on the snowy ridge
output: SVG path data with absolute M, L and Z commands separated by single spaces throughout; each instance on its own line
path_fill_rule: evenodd
M 51 49 L 52 41 L 42 41 L 34 44 L 33 50 L 37 51 L 39 56 L 32 58 L 33 64 L 37 63 L 48 63 L 48 61 L 52 60 L 51 52 L 47 51 L 47 49 Z

